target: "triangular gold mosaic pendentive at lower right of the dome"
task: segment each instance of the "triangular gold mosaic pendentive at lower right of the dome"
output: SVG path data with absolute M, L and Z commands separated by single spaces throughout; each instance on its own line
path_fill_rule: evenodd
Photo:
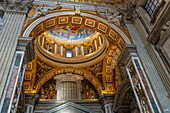
M 100 61 L 99 63 L 93 66 L 85 68 L 87 71 L 95 75 L 101 83 L 102 83 L 102 64 L 103 64 L 103 61 Z

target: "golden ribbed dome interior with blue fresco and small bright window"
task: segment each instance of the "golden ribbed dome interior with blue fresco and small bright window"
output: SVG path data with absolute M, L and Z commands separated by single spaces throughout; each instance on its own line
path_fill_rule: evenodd
M 55 66 L 87 66 L 102 59 L 107 39 L 99 32 L 80 26 L 60 26 L 37 38 L 38 56 Z

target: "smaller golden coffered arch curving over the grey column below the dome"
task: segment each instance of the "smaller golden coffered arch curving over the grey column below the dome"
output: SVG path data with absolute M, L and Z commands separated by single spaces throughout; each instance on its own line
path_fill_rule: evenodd
M 42 75 L 41 78 L 35 84 L 36 93 L 38 93 L 40 88 L 52 77 L 54 77 L 57 74 L 64 74 L 64 73 L 74 73 L 74 74 L 83 76 L 86 80 L 88 80 L 95 87 L 98 94 L 102 95 L 103 85 L 97 79 L 97 77 L 95 77 L 92 73 L 90 73 L 87 70 L 79 69 L 79 68 L 69 68 L 69 67 L 54 68 L 54 69 L 48 71 L 47 73 L 45 73 L 44 75 Z

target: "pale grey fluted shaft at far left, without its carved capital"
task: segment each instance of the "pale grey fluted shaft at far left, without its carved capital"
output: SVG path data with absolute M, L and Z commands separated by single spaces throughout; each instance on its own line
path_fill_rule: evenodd
M 17 38 L 24 24 L 25 14 L 5 13 L 6 20 L 0 34 L 0 98 L 10 71 L 17 46 Z

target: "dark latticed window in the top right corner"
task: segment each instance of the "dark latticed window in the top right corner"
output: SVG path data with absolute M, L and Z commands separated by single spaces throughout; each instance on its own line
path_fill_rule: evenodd
M 162 0 L 147 0 L 145 9 L 151 17 L 153 16 L 154 10 L 161 3 L 161 1 Z

